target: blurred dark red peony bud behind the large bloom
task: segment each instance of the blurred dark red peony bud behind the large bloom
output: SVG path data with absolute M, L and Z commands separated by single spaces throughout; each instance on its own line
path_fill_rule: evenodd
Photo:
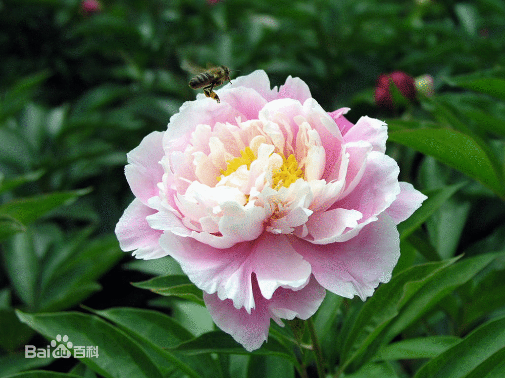
M 387 110 L 393 109 L 389 81 L 391 81 L 396 88 L 398 88 L 398 91 L 409 100 L 414 100 L 416 98 L 417 92 L 414 79 L 405 72 L 395 71 L 391 74 L 379 75 L 377 78 L 377 86 L 375 87 L 375 103 L 377 106 Z

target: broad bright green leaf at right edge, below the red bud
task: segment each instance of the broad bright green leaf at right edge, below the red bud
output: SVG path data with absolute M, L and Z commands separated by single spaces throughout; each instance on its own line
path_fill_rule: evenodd
M 397 142 L 458 169 L 505 198 L 503 174 L 496 171 L 486 152 L 466 134 L 450 129 L 417 129 L 391 132 Z

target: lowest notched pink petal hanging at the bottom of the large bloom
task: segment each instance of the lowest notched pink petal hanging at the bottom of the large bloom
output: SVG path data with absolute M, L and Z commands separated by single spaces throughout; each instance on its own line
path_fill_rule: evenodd
M 256 307 L 251 309 L 250 314 L 244 308 L 235 308 L 231 300 L 220 300 L 217 295 L 204 292 L 205 304 L 216 325 L 229 333 L 248 352 L 260 348 L 267 340 L 270 319 L 281 326 L 281 319 L 309 319 L 326 294 L 325 289 L 312 278 L 300 290 L 279 288 L 267 300 L 261 295 L 254 276 L 252 282 Z

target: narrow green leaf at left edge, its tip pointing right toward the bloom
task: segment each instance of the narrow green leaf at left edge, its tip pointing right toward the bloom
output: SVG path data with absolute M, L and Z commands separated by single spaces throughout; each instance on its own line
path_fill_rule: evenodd
M 11 216 L 26 224 L 33 222 L 58 206 L 71 204 L 78 197 L 90 192 L 91 189 L 81 189 L 13 200 L 0 205 L 0 215 Z

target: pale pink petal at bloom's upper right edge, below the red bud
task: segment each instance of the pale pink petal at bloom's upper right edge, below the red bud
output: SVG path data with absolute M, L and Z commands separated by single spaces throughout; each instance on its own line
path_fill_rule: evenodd
M 345 142 L 367 141 L 374 151 L 386 152 L 387 124 L 375 118 L 361 117 L 344 136 Z

